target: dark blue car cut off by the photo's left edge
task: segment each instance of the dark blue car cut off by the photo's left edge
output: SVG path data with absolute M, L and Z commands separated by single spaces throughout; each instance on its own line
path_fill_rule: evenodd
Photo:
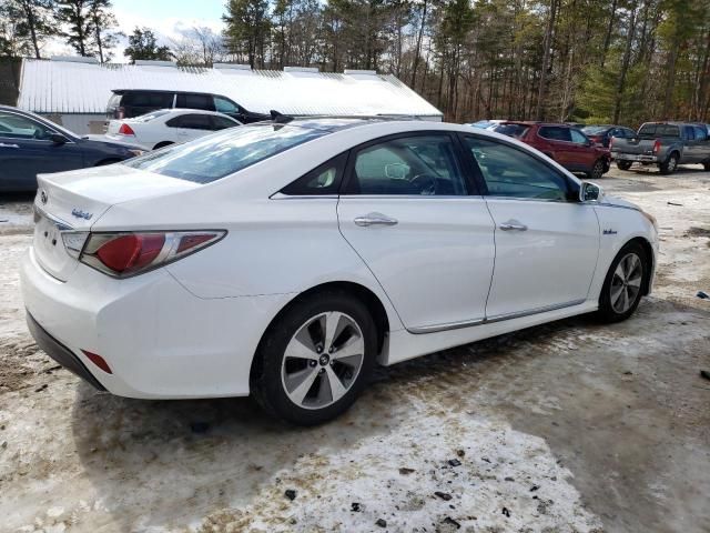
M 79 137 L 34 113 L 0 105 L 0 191 L 33 191 L 37 174 L 111 164 L 139 147 Z

